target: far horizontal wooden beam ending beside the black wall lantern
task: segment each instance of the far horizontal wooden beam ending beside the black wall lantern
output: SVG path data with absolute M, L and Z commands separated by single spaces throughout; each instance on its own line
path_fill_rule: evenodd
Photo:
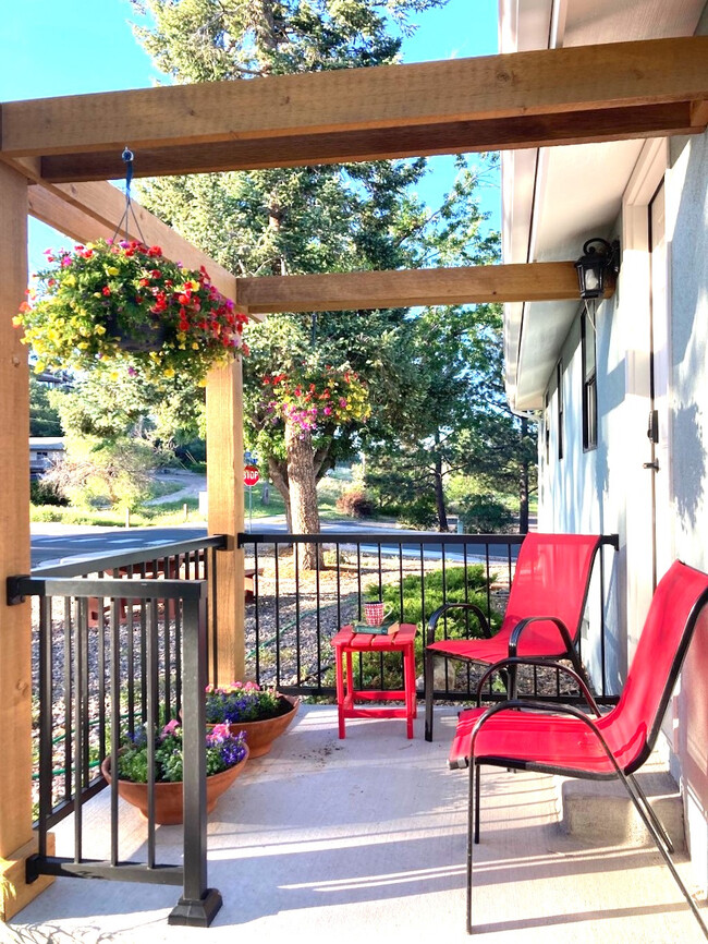
M 260 314 L 579 301 L 572 262 L 240 278 L 236 292 L 248 313 Z

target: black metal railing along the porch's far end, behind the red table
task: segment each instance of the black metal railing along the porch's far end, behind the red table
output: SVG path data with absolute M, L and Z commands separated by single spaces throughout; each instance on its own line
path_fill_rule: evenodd
M 343 625 L 362 620 L 363 603 L 383 596 L 392 617 L 415 622 L 418 694 L 423 695 L 423 628 L 442 603 L 475 602 L 501 622 L 523 535 L 412 534 L 380 530 L 327 532 L 317 535 L 247 533 L 239 535 L 246 567 L 253 571 L 254 597 L 246 607 L 246 675 L 259 683 L 276 685 L 292 694 L 333 698 L 332 636 Z M 608 544 L 612 541 L 608 541 Z M 294 548 L 316 545 L 314 569 L 304 570 Z M 582 642 L 602 664 L 596 680 L 598 700 L 613 701 L 606 690 L 605 547 L 596 562 L 597 591 L 590 636 Z M 471 626 L 465 627 L 471 631 Z M 589 651 L 589 650 L 588 650 Z M 398 656 L 366 654 L 358 661 L 358 687 L 399 689 Z M 530 691 L 536 698 L 573 699 L 559 674 L 534 671 Z M 474 667 L 464 678 L 445 679 L 436 699 L 469 700 L 478 675 Z M 367 685 L 368 680 L 368 685 Z M 387 683 L 388 681 L 388 683 Z M 488 697 L 503 692 L 490 683 Z

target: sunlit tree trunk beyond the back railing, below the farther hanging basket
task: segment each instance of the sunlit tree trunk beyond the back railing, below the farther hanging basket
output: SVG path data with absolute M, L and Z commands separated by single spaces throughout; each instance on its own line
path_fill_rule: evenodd
M 303 429 L 285 420 L 285 450 L 288 453 L 288 482 L 293 534 L 319 534 L 317 510 L 317 482 L 313 467 L 313 439 L 309 429 Z M 297 544 L 300 566 L 314 570 L 322 565 L 321 545 Z

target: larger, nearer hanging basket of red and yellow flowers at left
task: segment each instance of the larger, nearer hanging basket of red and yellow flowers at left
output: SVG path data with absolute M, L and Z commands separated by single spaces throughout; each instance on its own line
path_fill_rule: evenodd
M 163 385 L 179 376 L 203 385 L 241 349 L 247 318 L 209 280 L 159 246 L 98 241 L 47 252 L 48 268 L 14 323 L 37 355 L 35 371 L 110 368 Z

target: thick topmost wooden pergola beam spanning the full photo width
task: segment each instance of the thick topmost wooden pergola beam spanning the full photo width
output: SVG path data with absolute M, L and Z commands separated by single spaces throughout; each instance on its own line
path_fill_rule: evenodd
M 708 36 L 163 86 L 2 106 L 47 181 L 538 147 L 703 131 Z

